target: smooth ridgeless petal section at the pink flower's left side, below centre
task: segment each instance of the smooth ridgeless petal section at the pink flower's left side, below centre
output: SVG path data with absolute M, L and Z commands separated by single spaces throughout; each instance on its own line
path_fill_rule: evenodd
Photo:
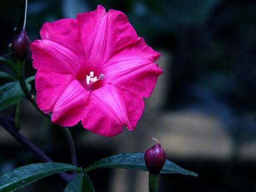
M 60 95 L 74 78 L 73 75 L 60 75 L 39 69 L 35 75 L 38 108 L 45 113 L 51 112 Z

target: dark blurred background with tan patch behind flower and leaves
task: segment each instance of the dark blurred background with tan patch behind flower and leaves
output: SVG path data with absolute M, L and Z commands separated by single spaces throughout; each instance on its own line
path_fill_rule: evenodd
M 116 153 L 143 152 L 162 143 L 168 158 L 199 174 L 161 175 L 159 191 L 256 191 L 256 1 L 253 0 L 29 0 L 27 34 L 40 38 L 44 22 L 75 18 L 98 4 L 118 9 L 137 34 L 162 53 L 163 75 L 136 130 L 106 138 L 71 129 L 82 167 Z M 0 2 L 0 55 L 8 53 L 22 1 Z M 0 65 L 1 70 L 8 71 Z M 27 75 L 35 74 L 31 61 Z M 5 82 L 1 80 L 1 84 Z M 14 107 L 1 111 L 12 115 Z M 67 141 L 27 102 L 22 102 L 21 133 L 55 161 L 70 163 Z M 0 174 L 37 163 L 34 154 L 0 127 Z M 95 170 L 96 191 L 147 191 L 147 173 Z M 62 191 L 51 176 L 19 191 Z

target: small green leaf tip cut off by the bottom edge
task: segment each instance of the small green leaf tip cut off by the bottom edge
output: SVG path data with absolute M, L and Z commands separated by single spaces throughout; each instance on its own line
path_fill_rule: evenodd
M 86 173 L 79 173 L 67 184 L 64 192 L 94 192 L 94 187 Z

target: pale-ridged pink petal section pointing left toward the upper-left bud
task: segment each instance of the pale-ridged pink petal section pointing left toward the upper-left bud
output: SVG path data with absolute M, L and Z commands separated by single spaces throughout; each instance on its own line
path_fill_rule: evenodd
M 44 68 L 59 74 L 77 75 L 83 59 L 57 42 L 42 39 L 31 44 L 33 67 Z

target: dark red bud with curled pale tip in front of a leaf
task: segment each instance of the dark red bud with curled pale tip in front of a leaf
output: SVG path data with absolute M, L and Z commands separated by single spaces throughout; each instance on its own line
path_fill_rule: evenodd
M 159 141 L 157 141 L 156 145 L 146 150 L 144 159 L 149 173 L 160 173 L 165 164 L 166 154 Z

